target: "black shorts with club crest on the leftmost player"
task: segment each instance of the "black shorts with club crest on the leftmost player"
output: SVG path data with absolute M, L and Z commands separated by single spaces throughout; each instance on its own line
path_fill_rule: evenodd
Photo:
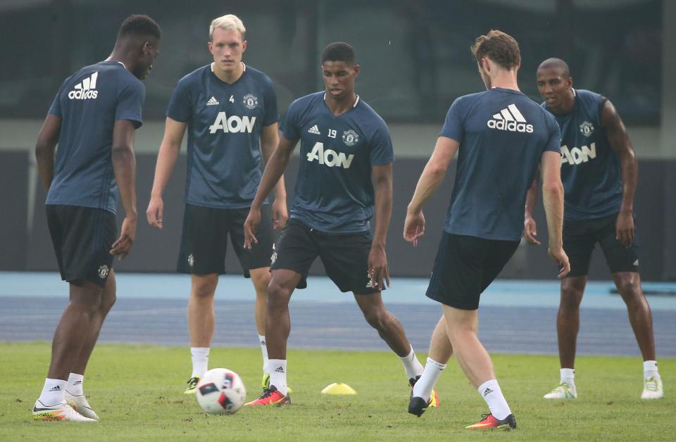
M 61 279 L 106 286 L 113 268 L 115 214 L 82 206 L 47 205 L 47 225 Z

